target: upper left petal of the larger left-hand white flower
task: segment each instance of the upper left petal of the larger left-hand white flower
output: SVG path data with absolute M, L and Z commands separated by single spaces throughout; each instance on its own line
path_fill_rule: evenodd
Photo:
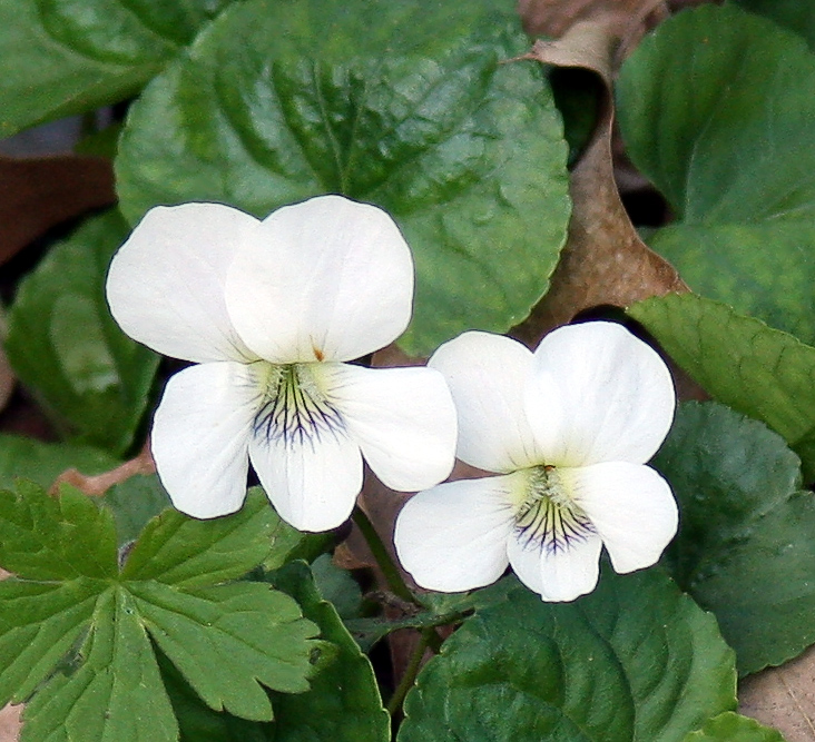
M 252 241 L 255 217 L 220 204 L 150 209 L 110 264 L 107 295 L 132 338 L 194 362 L 254 359 L 224 303 L 236 246 Z

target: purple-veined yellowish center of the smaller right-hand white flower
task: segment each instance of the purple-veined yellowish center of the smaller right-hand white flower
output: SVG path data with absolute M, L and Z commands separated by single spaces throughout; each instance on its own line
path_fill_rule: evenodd
M 536 466 L 529 472 L 527 497 L 515 509 L 515 533 L 524 547 L 554 554 L 597 531 L 569 496 L 558 469 Z

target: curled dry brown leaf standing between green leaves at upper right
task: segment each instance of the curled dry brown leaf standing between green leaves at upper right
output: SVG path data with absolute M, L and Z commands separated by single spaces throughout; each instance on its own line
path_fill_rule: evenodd
M 583 309 L 626 307 L 649 296 L 688 290 L 676 269 L 639 238 L 615 181 L 611 87 L 619 33 L 617 16 L 600 13 L 577 22 L 557 41 L 538 41 L 528 57 L 588 69 L 603 82 L 597 127 L 571 172 L 572 217 L 560 263 L 548 294 L 513 332 L 531 346 Z

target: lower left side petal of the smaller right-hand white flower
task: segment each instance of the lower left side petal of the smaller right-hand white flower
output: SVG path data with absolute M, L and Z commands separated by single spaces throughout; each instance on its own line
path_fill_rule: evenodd
M 509 477 L 460 479 L 411 497 L 393 543 L 402 566 L 428 590 L 458 593 L 495 582 L 512 528 Z

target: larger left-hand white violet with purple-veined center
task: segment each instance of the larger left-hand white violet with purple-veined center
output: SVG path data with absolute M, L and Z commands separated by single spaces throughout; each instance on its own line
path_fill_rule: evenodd
M 261 221 L 219 204 L 157 207 L 114 257 L 107 294 L 128 335 L 196 364 L 169 379 L 153 427 L 178 509 L 235 512 L 252 461 L 281 517 L 326 531 L 353 509 L 363 456 L 393 489 L 450 473 L 441 374 L 347 363 L 411 317 L 413 260 L 381 209 L 324 196 Z

